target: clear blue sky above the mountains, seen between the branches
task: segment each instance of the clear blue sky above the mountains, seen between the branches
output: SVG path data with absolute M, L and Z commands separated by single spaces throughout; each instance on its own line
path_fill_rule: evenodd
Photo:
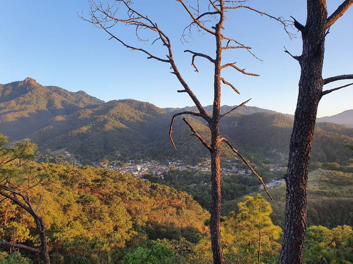
M 111 0 L 112 1 L 112 0 Z M 201 2 L 206 0 L 201 0 Z M 208 2 L 208 1 L 206 1 Z M 340 1 L 328 0 L 331 13 Z M 152 3 L 149 5 L 148 3 Z M 289 18 L 293 15 L 305 24 L 306 1 L 250 0 L 249 5 L 273 15 Z M 213 55 L 214 41 L 208 36 L 194 34 L 191 44 L 181 44 L 180 36 L 189 23 L 185 11 L 175 0 L 136 0 L 135 6 L 148 14 L 174 42 L 174 58 L 179 70 L 203 105 L 213 102 L 213 73 L 211 65 L 197 58 L 200 73 L 193 71 L 191 56 L 184 49 L 209 52 Z M 102 100 L 133 98 L 148 101 L 159 107 L 193 105 L 181 89 L 166 64 L 147 60 L 138 51 L 129 51 L 102 30 L 80 20 L 76 14 L 84 10 L 87 0 L 62 1 L 2 1 L 0 9 L 0 83 L 35 78 L 43 85 L 55 85 L 70 91 L 84 90 Z M 340 18 L 327 36 L 323 77 L 353 73 L 353 8 Z M 240 90 L 237 95 L 230 87 L 222 88 L 222 105 L 236 105 L 252 98 L 250 106 L 294 113 L 300 68 L 283 52 L 283 46 L 293 54 L 301 53 L 300 37 L 290 40 L 276 21 L 247 10 L 228 13 L 226 34 L 253 47 L 261 63 L 245 50 L 225 51 L 225 62 L 237 62 L 260 74 L 244 76 L 225 70 L 224 77 Z M 119 27 L 115 33 L 126 42 L 136 42 L 133 28 Z M 295 30 L 293 30 L 295 32 Z M 152 47 L 158 55 L 166 54 L 163 47 Z M 334 88 L 347 81 L 335 82 Z M 353 108 L 353 88 L 331 93 L 321 101 L 318 117 L 333 115 Z

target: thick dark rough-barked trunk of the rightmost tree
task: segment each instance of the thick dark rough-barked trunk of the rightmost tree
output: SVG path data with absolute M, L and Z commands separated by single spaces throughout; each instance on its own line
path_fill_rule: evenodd
M 308 0 L 307 21 L 305 30 L 302 31 L 303 53 L 299 58 L 301 74 L 298 102 L 289 145 L 288 171 L 285 176 L 286 218 L 280 264 L 303 262 L 307 178 L 317 107 L 322 96 L 326 19 L 326 1 Z

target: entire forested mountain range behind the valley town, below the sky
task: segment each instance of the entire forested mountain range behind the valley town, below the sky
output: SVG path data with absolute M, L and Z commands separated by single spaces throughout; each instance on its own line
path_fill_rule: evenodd
M 231 108 L 222 106 L 221 113 Z M 72 93 L 60 87 L 42 86 L 32 78 L 0 84 L 0 133 L 11 137 L 12 141 L 30 138 L 42 151 L 65 149 L 83 163 L 106 156 L 192 161 L 208 155 L 195 137 L 183 139 L 191 132 L 181 118 L 175 121 L 173 128 L 178 151 L 169 142 L 172 115 L 187 109 L 196 108 L 162 109 L 132 99 L 104 102 L 83 91 Z M 211 112 L 212 106 L 205 109 Z M 209 130 L 203 120 L 187 118 L 209 139 Z M 220 124 L 223 136 L 248 157 L 270 158 L 286 157 L 292 126 L 293 118 L 289 115 L 249 106 L 225 116 Z M 351 153 L 345 148 L 347 143 L 353 143 L 353 128 L 330 122 L 318 123 L 312 160 L 348 160 Z M 232 155 L 226 147 L 222 151 L 224 155 Z

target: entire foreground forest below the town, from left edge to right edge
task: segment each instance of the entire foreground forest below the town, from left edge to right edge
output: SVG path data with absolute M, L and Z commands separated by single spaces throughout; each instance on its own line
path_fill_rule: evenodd
M 45 223 L 53 263 L 212 263 L 209 213 L 193 199 L 209 208 L 209 186 L 204 184 L 209 181 L 207 172 L 173 169 L 164 175 L 164 182 L 150 178 L 192 197 L 130 174 L 92 166 L 37 163 L 31 160 L 36 145 L 29 140 L 12 146 L 4 136 L 0 141 L 1 184 L 16 186 L 29 195 L 33 205 L 39 204 L 37 212 Z M 353 261 L 352 179 L 352 173 L 337 170 L 312 172 L 309 224 L 315 226 L 307 231 L 304 263 Z M 256 186 L 255 179 L 253 183 L 245 176 L 223 175 L 222 181 L 228 212 L 222 217 L 221 235 L 227 261 L 276 263 L 283 227 L 283 186 L 271 189 L 275 202 L 270 203 L 252 192 L 257 190 L 251 187 Z M 201 191 L 197 184 L 189 187 L 195 182 L 201 183 Z M 240 197 L 239 193 L 251 196 Z M 346 210 L 342 214 L 347 208 L 351 213 Z M 25 210 L 1 199 L 0 218 L 3 241 L 40 246 L 34 221 Z M 41 261 L 38 254 L 16 247 L 2 250 L 0 263 Z

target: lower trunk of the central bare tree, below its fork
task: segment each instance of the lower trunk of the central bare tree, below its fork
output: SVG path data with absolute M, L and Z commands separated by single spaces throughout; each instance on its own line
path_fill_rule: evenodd
M 211 246 L 214 264 L 224 264 L 221 234 L 220 234 L 220 215 L 221 215 L 221 163 L 220 163 L 220 133 L 218 122 L 211 126 Z

